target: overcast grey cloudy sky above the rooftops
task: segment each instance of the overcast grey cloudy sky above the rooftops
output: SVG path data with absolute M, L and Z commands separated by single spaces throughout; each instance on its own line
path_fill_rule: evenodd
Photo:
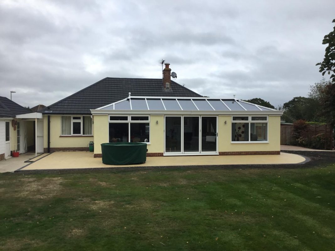
M 0 96 L 50 105 L 105 77 L 161 78 L 201 95 L 306 96 L 321 80 L 335 1 L 0 1 Z

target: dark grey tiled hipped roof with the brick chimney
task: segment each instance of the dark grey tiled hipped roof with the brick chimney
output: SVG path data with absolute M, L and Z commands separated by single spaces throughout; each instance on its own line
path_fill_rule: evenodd
M 164 91 L 162 79 L 104 78 L 43 110 L 43 114 L 91 114 L 96 109 L 132 96 L 202 97 L 171 81 L 171 90 Z

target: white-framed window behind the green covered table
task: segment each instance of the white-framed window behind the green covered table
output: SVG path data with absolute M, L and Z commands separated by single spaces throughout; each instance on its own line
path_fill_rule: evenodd
M 109 142 L 150 144 L 149 115 L 109 115 Z

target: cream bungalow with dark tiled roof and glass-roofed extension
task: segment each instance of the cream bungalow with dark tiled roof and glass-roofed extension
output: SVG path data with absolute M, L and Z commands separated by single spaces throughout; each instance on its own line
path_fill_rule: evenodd
M 43 111 L 44 152 L 144 142 L 148 156 L 280 153 L 282 111 L 207 98 L 171 80 L 104 78 Z

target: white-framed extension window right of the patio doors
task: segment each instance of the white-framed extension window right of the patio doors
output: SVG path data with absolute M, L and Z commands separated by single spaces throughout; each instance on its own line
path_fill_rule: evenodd
M 267 115 L 231 117 L 231 143 L 268 143 Z

